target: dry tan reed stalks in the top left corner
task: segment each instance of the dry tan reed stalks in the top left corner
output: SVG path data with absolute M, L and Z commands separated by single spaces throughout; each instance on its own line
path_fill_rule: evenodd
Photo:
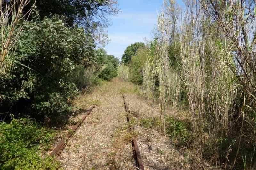
M 24 7 L 30 0 L 0 0 L 0 26 L 1 26 L 1 57 L 0 57 L 0 75 L 12 68 L 11 56 L 15 53 L 15 44 L 17 43 L 23 26 L 17 25 L 20 20 L 29 17 L 31 10 L 22 15 Z M 35 1 L 36 2 L 36 1 Z M 26 19 L 26 18 L 25 18 Z M 7 60 L 4 62 L 4 60 Z

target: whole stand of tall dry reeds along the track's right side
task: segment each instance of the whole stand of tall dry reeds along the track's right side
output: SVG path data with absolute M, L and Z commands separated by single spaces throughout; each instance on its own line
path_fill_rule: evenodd
M 203 8 L 196 0 L 185 1 L 185 10 L 179 16 L 180 22 L 177 22 L 177 16 L 170 14 L 170 19 L 164 12 L 160 13 L 156 43 L 152 50 L 154 53 L 144 65 L 142 88 L 145 98 L 152 101 L 152 107 L 156 102 L 155 97 L 158 97 L 160 118 L 165 129 L 167 108 L 178 106 L 184 85 L 190 110 L 187 116 L 193 131 L 192 158 L 202 162 L 207 155 L 216 167 L 221 167 L 231 165 L 230 154 L 234 155 L 232 149 L 237 149 L 234 141 L 240 146 L 243 131 L 239 131 L 240 135 L 234 133 L 237 132 L 237 122 L 241 117 L 242 127 L 244 124 L 245 106 L 239 104 L 239 98 L 245 96 L 239 93 L 241 90 L 237 85 L 236 74 L 227 64 L 233 61 L 232 53 L 226 53 L 228 46 L 223 46 L 218 28 L 210 22 Z M 175 24 L 180 23 L 180 30 L 173 29 L 173 18 Z M 174 36 L 173 30 L 176 30 L 177 36 Z M 171 66 L 173 61 L 168 56 L 168 47 L 172 43 L 180 44 L 179 52 L 175 54 L 176 68 Z M 243 113 L 239 114 L 241 117 L 236 117 L 238 112 Z M 232 137 L 233 142 L 229 140 Z M 206 152 L 208 150 L 213 154 L 209 155 Z M 238 152 L 239 149 L 236 157 Z M 203 167 L 202 164 L 200 166 Z

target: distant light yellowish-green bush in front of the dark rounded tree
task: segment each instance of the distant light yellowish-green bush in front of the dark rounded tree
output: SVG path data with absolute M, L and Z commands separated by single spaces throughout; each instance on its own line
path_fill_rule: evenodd
M 131 63 L 129 64 L 130 69 L 130 81 L 137 85 L 142 85 L 142 71 L 143 67 L 148 59 L 149 50 L 148 48 L 139 48 L 137 54 L 132 56 Z

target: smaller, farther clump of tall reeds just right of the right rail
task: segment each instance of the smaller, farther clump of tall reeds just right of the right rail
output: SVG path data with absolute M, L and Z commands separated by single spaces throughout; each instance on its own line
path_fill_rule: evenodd
M 158 25 L 154 41 L 149 44 L 151 57 L 144 65 L 142 89 L 144 96 L 152 103 L 152 116 L 154 115 L 154 105 L 159 104 L 160 120 L 165 132 L 166 110 L 170 106 L 177 106 L 180 94 L 180 76 L 177 69 L 170 67 L 168 50 L 172 40 L 171 21 L 162 11 L 158 15 Z M 158 96 L 157 101 L 155 97 Z

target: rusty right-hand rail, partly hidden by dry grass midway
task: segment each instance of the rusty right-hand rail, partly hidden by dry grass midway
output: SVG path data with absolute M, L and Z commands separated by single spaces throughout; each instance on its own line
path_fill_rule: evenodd
M 125 111 L 127 113 L 127 122 L 129 122 L 131 120 L 131 117 L 130 117 L 131 114 L 130 114 L 128 104 L 125 101 L 124 94 L 123 94 L 123 100 L 124 100 Z M 133 127 L 130 127 L 130 130 L 133 130 L 133 129 L 134 129 Z M 132 147 L 133 147 L 133 152 L 134 152 L 134 156 L 136 158 L 136 161 L 137 161 L 136 163 L 137 163 L 138 167 L 141 170 L 144 170 L 143 161 L 142 161 L 142 157 L 141 157 L 141 154 L 140 154 L 139 146 L 138 146 L 137 140 L 135 138 L 132 139 Z

